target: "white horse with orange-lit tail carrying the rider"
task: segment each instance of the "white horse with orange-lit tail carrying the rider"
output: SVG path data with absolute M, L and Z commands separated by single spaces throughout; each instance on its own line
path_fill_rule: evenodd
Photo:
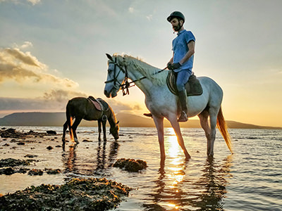
M 131 79 L 145 94 L 146 106 L 152 113 L 158 132 L 161 160 L 166 158 L 164 151 L 164 117 L 171 123 L 176 132 L 178 143 L 185 153 L 185 158 L 187 160 L 190 159 L 177 121 L 180 114 L 178 96 L 172 94 L 166 84 L 168 71 L 154 68 L 131 56 L 120 56 L 117 54 L 114 54 L 114 56 L 106 54 L 106 56 L 109 58 L 108 76 L 104 87 L 106 97 L 114 98 L 121 88 L 123 89 L 123 94 L 126 94 L 124 89 L 130 87 L 128 79 Z M 214 155 L 216 125 L 225 139 L 229 150 L 232 152 L 231 138 L 221 110 L 223 91 L 209 77 L 198 77 L 198 79 L 200 84 L 202 84 L 203 93 L 200 96 L 188 96 L 188 117 L 198 115 L 200 118 L 200 124 L 207 137 L 207 155 Z

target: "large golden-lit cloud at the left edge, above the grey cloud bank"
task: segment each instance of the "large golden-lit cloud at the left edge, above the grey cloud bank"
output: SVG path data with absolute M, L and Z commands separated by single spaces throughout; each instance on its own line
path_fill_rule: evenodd
M 32 43 L 25 41 L 22 47 L 27 46 L 32 46 Z M 33 84 L 45 82 L 56 87 L 78 87 L 78 83 L 71 79 L 48 73 L 48 66 L 39 62 L 29 51 L 23 52 L 18 48 L 0 48 L 0 84 L 8 79 L 18 83 L 31 80 Z

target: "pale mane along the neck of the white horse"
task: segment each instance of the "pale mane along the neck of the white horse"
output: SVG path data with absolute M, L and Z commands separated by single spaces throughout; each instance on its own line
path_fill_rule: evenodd
M 117 62 L 120 65 L 132 65 L 135 70 L 140 72 L 142 76 L 146 76 L 153 84 L 162 85 L 166 83 L 166 77 L 168 75 L 167 71 L 157 73 L 160 70 L 159 68 L 155 68 L 152 65 L 145 63 L 140 58 L 135 58 L 133 56 L 118 54 L 114 54 L 114 56 L 117 58 Z

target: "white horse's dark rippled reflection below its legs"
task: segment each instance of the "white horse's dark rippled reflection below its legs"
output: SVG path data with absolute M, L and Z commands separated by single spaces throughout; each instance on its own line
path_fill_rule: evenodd
M 208 157 L 202 175 L 195 178 L 185 177 L 177 185 L 171 188 L 168 184 L 168 174 L 165 171 L 165 162 L 161 161 L 159 178 L 155 181 L 153 204 L 143 205 L 149 209 L 165 210 L 159 204 L 168 203 L 177 209 L 193 207 L 192 210 L 223 210 L 223 198 L 226 196 L 226 177 L 231 177 L 230 167 L 232 155 L 229 155 L 221 164 L 217 164 L 214 158 Z M 185 162 L 184 170 L 189 168 L 189 161 Z M 185 171 L 184 171 L 185 172 Z M 184 174 L 184 173 L 183 173 Z M 176 210 L 177 210 L 176 209 Z

